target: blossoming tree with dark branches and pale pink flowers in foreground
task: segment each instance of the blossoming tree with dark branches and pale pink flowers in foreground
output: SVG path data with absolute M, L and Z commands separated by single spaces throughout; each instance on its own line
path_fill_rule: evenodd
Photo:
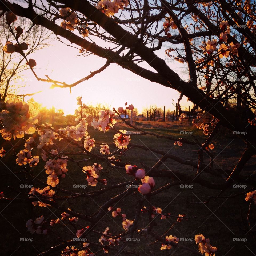
M 176 222 L 193 221 L 195 216 L 185 214 L 173 215 L 165 212 L 151 203 L 151 198 L 181 184 L 199 184 L 207 189 L 219 190 L 219 196 L 232 187 L 234 182 L 245 183 L 252 187 L 246 194 L 246 201 L 255 202 L 255 177 L 253 172 L 248 176 L 241 172 L 246 163 L 256 153 L 255 141 L 255 117 L 248 117 L 250 109 L 254 108 L 255 98 L 255 5 L 250 1 L 236 1 L 230 5 L 229 1 L 165 1 L 150 2 L 147 0 L 100 0 L 100 1 L 47 1 L 47 5 L 39 6 L 37 2 L 28 0 L 25 5 L 3 0 L 0 2 L 2 15 L 5 15 L 7 24 L 12 24 L 17 17 L 25 17 L 34 24 L 45 27 L 54 34 L 65 38 L 79 47 L 82 54 L 95 54 L 106 63 L 96 71 L 91 72 L 85 78 L 73 84 L 67 84 L 37 76 L 33 67 L 40 65 L 39 60 L 26 59 L 27 45 L 19 42 L 22 28 L 16 28 L 13 33 L 13 41 L 7 41 L 3 47 L 5 53 L 17 52 L 24 56 L 31 72 L 39 81 L 52 83 L 53 86 L 69 88 L 76 86 L 81 81 L 90 79 L 106 69 L 111 63 L 120 65 L 131 72 L 156 82 L 159 85 L 170 87 L 180 92 L 178 99 L 179 119 L 182 121 L 187 116 L 193 116 L 192 124 L 202 131 L 205 136 L 203 143 L 197 138 L 175 138 L 167 135 L 159 135 L 144 131 L 141 128 L 122 121 L 130 128 L 140 132 L 140 135 L 150 135 L 157 138 L 173 141 L 178 147 L 185 144 L 198 146 L 198 159 L 185 160 L 168 152 L 145 145 L 132 143 L 132 135 L 126 130 L 116 130 L 115 124 L 118 116 L 127 110 L 133 110 L 133 105 L 118 107 L 113 110 L 101 110 L 98 117 L 88 124 L 86 118 L 86 105 L 80 96 L 77 97 L 78 109 L 75 110 L 78 122 L 75 126 L 55 129 L 52 125 L 38 124 L 38 113 L 30 104 L 15 100 L 2 102 L 3 111 L 0 113 L 2 129 L 0 133 L 5 140 L 22 139 L 24 135 L 38 134 L 38 137 L 26 138 L 24 149 L 17 153 L 16 163 L 27 167 L 26 175 L 36 178 L 34 169 L 40 161 L 44 162 L 45 173 L 48 175 L 41 180 L 41 187 L 32 187 L 26 199 L 35 207 L 43 207 L 62 210 L 62 214 L 49 220 L 43 215 L 35 219 L 27 220 L 27 230 L 31 234 L 55 234 L 53 226 L 72 225 L 77 231 L 75 239 L 67 240 L 57 234 L 60 243 L 41 252 L 40 255 L 97 255 L 99 253 L 111 253 L 111 255 L 134 254 L 136 249 L 128 246 L 129 241 L 136 239 L 136 234 L 145 233 L 159 243 L 160 250 L 179 248 L 185 250 L 185 254 L 205 254 L 214 256 L 217 247 L 212 246 L 207 234 L 196 234 L 195 243 L 199 245 L 199 251 L 193 246 L 184 246 L 182 241 L 173 234 L 173 230 L 157 230 L 155 223 L 159 219 L 175 218 Z M 39 11 L 43 13 L 38 14 Z M 99 29 L 102 28 L 103 32 Z M 129 30 L 128 30 L 129 29 Z M 129 31 L 133 31 L 130 33 Z M 15 34 L 16 33 L 16 34 Z M 98 37 L 100 42 L 108 42 L 109 47 L 97 45 L 88 38 Z M 157 53 L 163 48 L 169 58 L 183 63 L 189 74 L 188 81 L 183 81 Z M 173 45 L 177 47 L 174 49 Z M 139 63 L 146 62 L 154 70 L 142 68 Z M 194 107 L 188 112 L 182 110 L 179 102 L 187 97 L 194 103 Z M 231 102 L 235 99 L 236 108 L 231 109 Z M 202 117 L 210 114 L 209 121 Z M 243 113 L 243 114 L 242 114 Z M 249 114 L 248 114 L 249 113 Z M 109 130 L 114 130 L 114 145 L 116 149 L 110 152 L 106 143 L 95 142 L 93 134 L 88 133 L 88 125 L 98 129 L 108 136 Z M 221 127 L 239 136 L 245 143 L 245 151 L 241 155 L 233 170 L 220 170 L 213 166 L 213 154 L 215 145 L 213 139 Z M 181 136 L 180 136 L 181 137 Z M 59 149 L 58 141 L 66 141 L 76 147 L 76 152 L 65 152 Z M 99 143 L 99 145 L 97 145 Z M 99 154 L 95 148 L 99 147 Z M 123 158 L 125 152 L 132 148 L 150 150 L 162 157 L 152 166 L 141 163 L 141 166 L 126 162 Z M 40 156 L 35 155 L 35 149 L 40 150 Z M 1 149 L 4 156 L 5 150 Z M 83 159 L 76 159 L 79 155 Z M 207 158 L 210 159 L 208 163 Z M 179 164 L 193 167 L 193 171 L 180 173 L 177 170 L 165 170 L 161 165 L 166 159 L 172 159 Z M 92 165 L 86 162 L 93 160 Z M 63 179 L 69 175 L 69 163 L 77 164 L 79 171 L 85 174 L 88 186 L 99 187 L 89 193 L 75 193 L 65 190 L 61 186 Z M 104 163 L 104 164 L 101 164 Z M 124 175 L 130 175 L 131 180 L 120 184 L 108 185 L 107 179 L 102 179 L 102 169 L 105 166 L 123 171 Z M 210 178 L 204 178 L 203 174 L 224 178 L 224 181 L 212 183 Z M 72 176 L 72 174 L 70 174 Z M 169 177 L 170 182 L 157 184 L 157 177 Z M 209 177 L 209 176 L 208 176 Z M 127 187 L 128 185 L 128 187 Z M 93 198 L 103 195 L 105 192 L 116 188 L 124 188 L 121 193 L 101 202 L 95 213 L 89 209 L 78 213 L 70 208 L 63 207 L 66 200 L 75 201 L 77 198 Z M 61 194 L 60 194 L 61 193 Z M 140 197 L 134 197 L 139 195 Z M 234 195 L 234 196 L 238 196 Z M 119 201 L 124 198 L 130 200 L 134 215 L 127 218 L 123 210 L 118 207 Z M 8 198 L 5 191 L 1 193 L 3 200 L 19 200 Z M 244 199 L 243 199 L 244 200 Z M 87 211 L 88 210 L 88 211 Z M 121 223 L 123 231 L 105 227 L 105 231 L 97 227 L 103 217 L 110 211 L 112 218 Z M 141 222 L 142 216 L 147 217 L 147 224 Z M 249 216 L 249 214 L 248 214 Z M 97 234 L 97 240 L 91 238 Z M 214 244 L 214 242 L 213 242 Z M 215 244 L 214 244 L 215 245 Z M 127 250 L 127 246 L 129 249 Z M 136 247 L 136 246 L 135 246 Z M 97 249 L 95 249 L 97 248 Z

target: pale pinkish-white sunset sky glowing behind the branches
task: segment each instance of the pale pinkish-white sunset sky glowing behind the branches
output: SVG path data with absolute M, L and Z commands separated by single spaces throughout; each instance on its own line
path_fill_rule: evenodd
M 63 41 L 68 42 L 65 39 Z M 107 43 L 99 43 L 100 46 L 108 47 Z M 155 53 L 167 60 L 165 49 L 168 46 L 170 47 L 171 45 L 165 45 Z M 37 62 L 34 71 L 38 77 L 45 78 L 45 75 L 48 75 L 51 79 L 66 83 L 73 83 L 89 75 L 90 71 L 99 69 L 106 62 L 106 59 L 95 55 L 86 57 L 76 55 L 79 55 L 78 49 L 66 46 L 54 39 L 49 47 L 31 53 L 29 58 L 35 59 Z M 176 61 L 168 61 L 167 64 L 182 79 L 187 79 L 186 64 Z M 139 65 L 154 71 L 146 62 Z M 118 108 L 124 107 L 125 102 L 127 102 L 128 105 L 133 104 L 139 110 L 139 113 L 142 113 L 143 109 L 150 105 L 157 105 L 162 109 L 163 106 L 166 106 L 166 110 L 174 110 L 173 100 L 177 102 L 179 98 L 177 91 L 150 82 L 114 63 L 88 81 L 83 81 L 73 87 L 72 94 L 70 94 L 69 88 L 50 89 L 51 84 L 37 81 L 31 70 L 26 70 L 23 78 L 25 78 L 26 86 L 19 90 L 19 94 L 34 93 L 42 90 L 43 92 L 33 95 L 34 100 L 47 108 L 54 106 L 56 110 L 62 109 L 65 115 L 74 113 L 77 108 L 77 96 L 82 96 L 82 101 L 86 105 L 107 103 L 111 108 Z M 21 85 L 23 84 L 22 81 L 19 82 Z M 25 101 L 30 98 L 25 97 Z M 192 106 L 192 103 L 187 102 L 186 97 L 183 97 L 181 106 L 188 107 L 189 105 Z

